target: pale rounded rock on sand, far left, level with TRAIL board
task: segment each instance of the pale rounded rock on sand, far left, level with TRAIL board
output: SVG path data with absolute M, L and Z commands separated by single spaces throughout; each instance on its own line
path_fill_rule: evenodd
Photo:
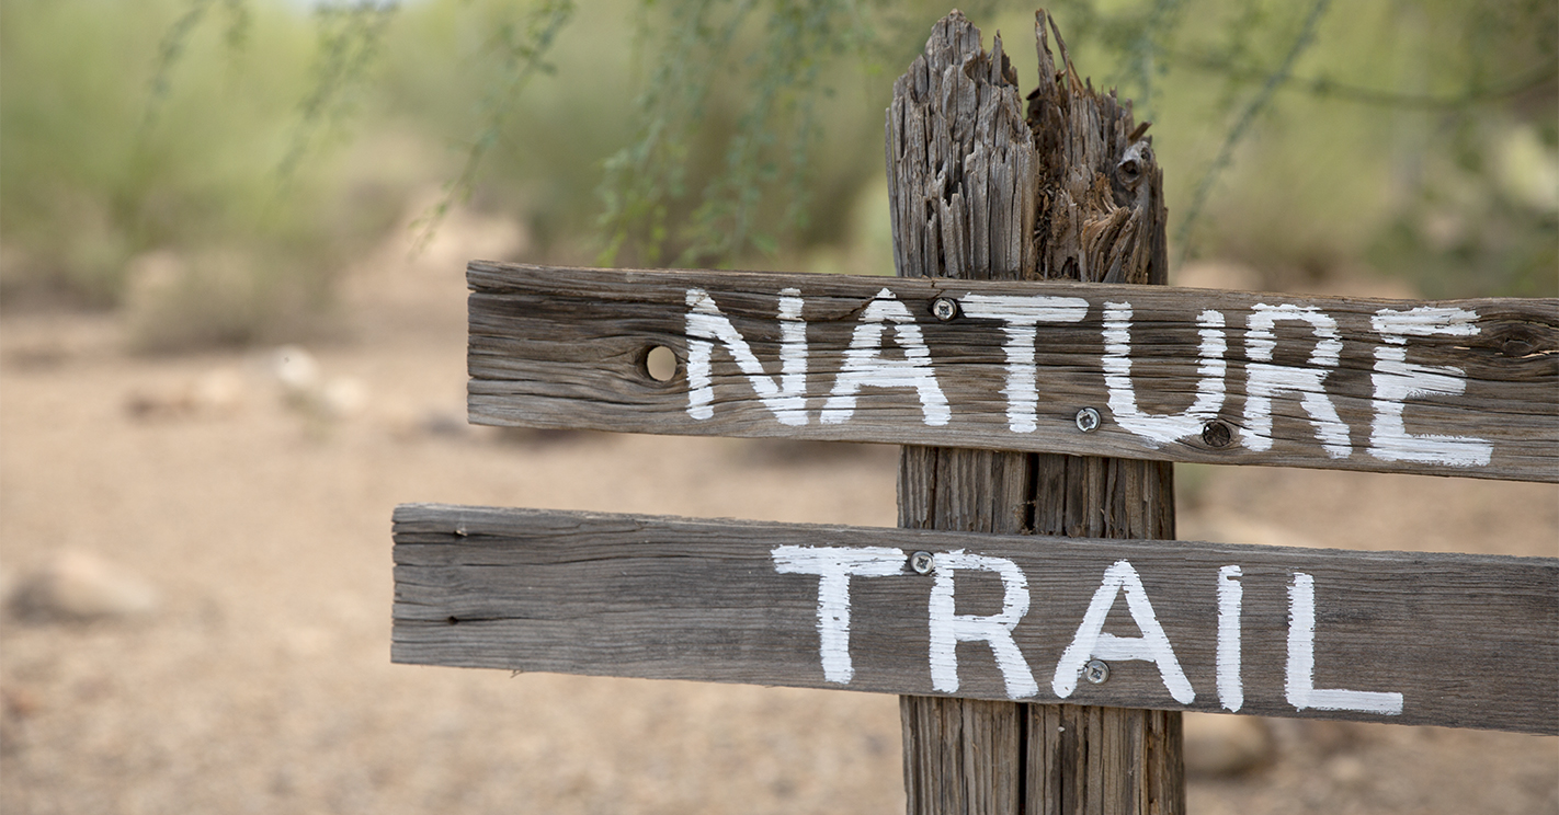
M 157 608 L 145 580 L 86 552 L 64 552 L 20 580 L 11 609 L 28 620 L 129 619 Z

